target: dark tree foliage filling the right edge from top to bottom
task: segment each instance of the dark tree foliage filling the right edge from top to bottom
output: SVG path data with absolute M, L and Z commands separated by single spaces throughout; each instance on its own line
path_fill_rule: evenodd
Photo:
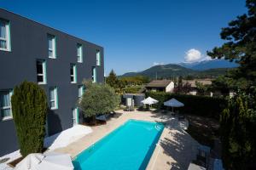
M 236 60 L 240 64 L 213 82 L 216 87 L 233 87 L 237 94 L 230 99 L 220 120 L 222 156 L 227 169 L 256 169 L 256 1 L 247 0 L 246 6 L 247 14 L 222 29 L 220 35 L 226 42 L 207 52 L 212 58 Z

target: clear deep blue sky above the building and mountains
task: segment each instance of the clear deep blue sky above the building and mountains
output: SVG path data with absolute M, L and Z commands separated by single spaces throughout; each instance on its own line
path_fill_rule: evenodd
M 1 0 L 0 8 L 104 47 L 105 74 L 206 59 L 243 0 Z

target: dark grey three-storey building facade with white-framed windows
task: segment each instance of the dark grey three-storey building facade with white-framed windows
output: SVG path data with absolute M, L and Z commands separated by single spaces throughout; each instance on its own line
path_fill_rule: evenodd
M 82 120 L 84 79 L 104 82 L 101 46 L 0 8 L 0 156 L 19 149 L 10 102 L 16 85 L 26 80 L 44 88 L 52 135 Z

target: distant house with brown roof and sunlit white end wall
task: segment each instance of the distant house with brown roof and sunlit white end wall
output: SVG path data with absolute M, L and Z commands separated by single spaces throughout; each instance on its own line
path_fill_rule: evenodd
M 174 89 L 174 82 L 172 82 L 172 80 L 153 80 L 149 82 L 145 88 L 146 91 L 172 93 Z

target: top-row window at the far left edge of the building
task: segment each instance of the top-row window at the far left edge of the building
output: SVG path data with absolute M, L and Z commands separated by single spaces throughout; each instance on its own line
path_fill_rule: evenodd
M 0 50 L 10 51 L 9 21 L 0 19 Z

